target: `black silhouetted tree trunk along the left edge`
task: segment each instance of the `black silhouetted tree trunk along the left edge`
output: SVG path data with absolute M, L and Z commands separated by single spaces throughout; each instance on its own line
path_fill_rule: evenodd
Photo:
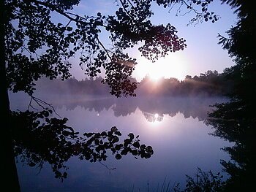
M 18 172 L 15 164 L 15 157 L 12 147 L 11 127 L 10 127 L 10 101 L 7 88 L 5 45 L 4 45 L 4 28 L 7 22 L 7 15 L 4 12 L 4 1 L 0 1 L 0 115 L 1 115 L 1 188 L 6 191 L 20 191 L 18 181 Z

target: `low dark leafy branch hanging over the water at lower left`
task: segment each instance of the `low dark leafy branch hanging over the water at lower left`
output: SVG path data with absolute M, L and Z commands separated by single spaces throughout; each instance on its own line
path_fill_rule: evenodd
M 64 180 L 72 156 L 90 162 L 106 161 L 108 151 L 120 159 L 128 153 L 135 158 L 150 158 L 151 146 L 140 144 L 139 136 L 128 134 L 121 142 L 121 132 L 114 126 L 101 133 L 78 132 L 66 125 L 67 118 L 49 118 L 53 111 L 12 112 L 12 138 L 15 156 L 29 166 L 42 169 L 50 164 L 55 177 Z

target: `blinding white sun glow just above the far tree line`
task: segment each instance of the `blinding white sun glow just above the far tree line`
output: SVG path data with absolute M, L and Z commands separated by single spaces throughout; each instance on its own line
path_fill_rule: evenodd
M 187 75 L 186 71 L 187 62 L 181 55 L 173 53 L 165 58 L 159 58 L 155 63 L 151 63 L 146 58 L 139 58 L 133 75 L 138 80 L 142 80 L 146 75 L 153 81 L 158 81 L 162 77 L 174 77 L 178 80 L 184 80 Z

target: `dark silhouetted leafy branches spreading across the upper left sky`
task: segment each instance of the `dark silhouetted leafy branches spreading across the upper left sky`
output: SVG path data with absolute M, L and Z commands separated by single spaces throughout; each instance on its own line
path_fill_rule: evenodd
M 153 0 L 152 0 L 153 1 Z M 72 12 L 80 0 L 5 0 L 1 1 L 1 115 L 3 125 L 10 125 L 10 101 L 8 91 L 23 91 L 42 106 L 45 104 L 33 96 L 34 85 L 41 77 L 50 80 L 61 77 L 67 80 L 71 63 L 69 58 L 80 51 L 80 66 L 90 77 L 96 77 L 105 69 L 103 82 L 110 86 L 115 96 L 135 96 L 136 82 L 129 77 L 136 61 L 124 50 L 139 42 L 143 56 L 155 61 L 169 52 L 183 50 L 184 39 L 177 36 L 176 28 L 154 26 L 151 23 L 151 0 L 119 0 L 114 15 L 78 15 Z M 211 0 L 212 1 L 212 0 Z M 160 1 L 159 6 L 168 7 L 181 4 L 196 11 L 190 22 L 218 20 L 217 15 L 208 11 L 211 1 Z M 53 22 L 53 15 L 64 18 L 61 23 Z M 100 39 L 101 31 L 107 31 L 113 47 L 106 47 Z M 18 183 L 15 161 L 12 154 L 12 136 L 10 126 L 3 128 L 3 137 L 7 139 L 4 151 L 6 166 L 4 175 L 7 180 Z M 10 163 L 12 162 L 12 164 Z M 10 175 L 15 177 L 9 177 Z M 9 183 L 9 182 L 4 182 Z M 12 191 L 18 191 L 18 185 Z

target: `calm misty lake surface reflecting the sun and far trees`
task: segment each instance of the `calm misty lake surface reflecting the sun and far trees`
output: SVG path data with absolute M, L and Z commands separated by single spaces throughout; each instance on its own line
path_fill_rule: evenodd
M 12 95 L 12 110 L 26 110 L 29 99 Z M 221 159 L 230 157 L 221 150 L 232 144 L 213 137 L 214 128 L 204 120 L 210 104 L 225 98 L 138 97 L 116 99 L 99 96 L 41 96 L 53 103 L 61 118 L 75 131 L 101 132 L 116 126 L 122 136 L 139 135 L 140 142 L 151 145 L 154 154 L 148 159 L 126 155 L 116 160 L 109 155 L 103 164 L 67 162 L 67 179 L 56 179 L 49 164 L 42 169 L 17 162 L 21 191 L 161 191 L 162 185 L 180 183 L 186 174 L 194 177 L 197 167 L 203 171 L 221 172 Z M 39 107 L 37 107 L 39 108 Z M 114 168 L 114 169 L 113 169 Z M 113 170 L 112 170 L 113 169 Z M 227 175 L 222 172 L 227 177 Z

